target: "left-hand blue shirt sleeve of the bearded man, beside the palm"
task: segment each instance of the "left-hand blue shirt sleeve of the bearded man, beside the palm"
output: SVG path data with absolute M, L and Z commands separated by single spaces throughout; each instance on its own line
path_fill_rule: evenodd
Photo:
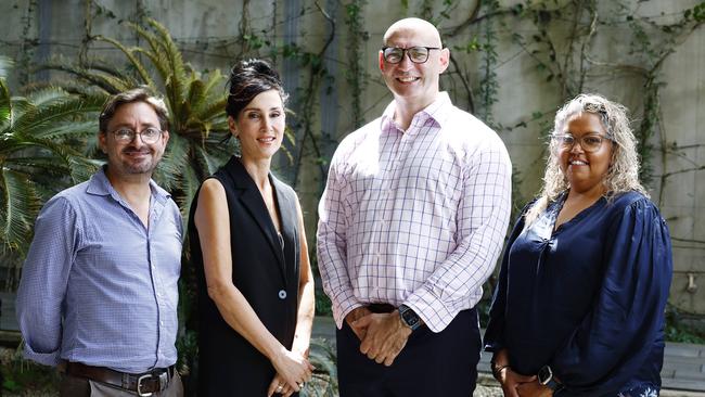
M 49 201 L 35 223 L 35 236 L 22 269 L 16 313 L 25 341 L 24 356 L 56 366 L 62 341 L 62 304 L 79 225 L 76 212 L 64 197 Z

